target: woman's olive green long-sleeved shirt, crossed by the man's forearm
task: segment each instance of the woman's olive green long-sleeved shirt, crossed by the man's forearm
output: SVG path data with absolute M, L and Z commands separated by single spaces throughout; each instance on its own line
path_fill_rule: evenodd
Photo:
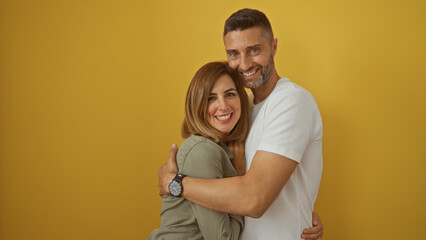
M 191 136 L 180 146 L 176 161 L 179 173 L 187 176 L 224 178 L 237 176 L 232 158 L 225 144 Z M 163 196 L 161 226 L 148 240 L 238 239 L 243 228 L 242 216 L 209 210 L 184 198 Z

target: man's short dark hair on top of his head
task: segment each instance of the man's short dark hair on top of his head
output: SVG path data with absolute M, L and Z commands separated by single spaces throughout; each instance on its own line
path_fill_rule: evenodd
M 252 27 L 262 28 L 262 35 L 271 42 L 274 39 L 271 23 L 266 15 L 259 10 L 249 8 L 238 10 L 226 20 L 223 37 L 225 37 L 228 32 L 242 31 Z

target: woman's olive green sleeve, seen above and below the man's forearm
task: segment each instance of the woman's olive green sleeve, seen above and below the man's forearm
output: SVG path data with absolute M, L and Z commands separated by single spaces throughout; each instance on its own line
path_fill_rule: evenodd
M 196 178 L 223 178 L 223 161 L 229 161 L 223 151 L 213 144 L 201 142 L 188 152 L 181 172 Z M 242 216 L 216 212 L 195 203 L 191 206 L 205 240 L 239 238 L 244 228 Z

